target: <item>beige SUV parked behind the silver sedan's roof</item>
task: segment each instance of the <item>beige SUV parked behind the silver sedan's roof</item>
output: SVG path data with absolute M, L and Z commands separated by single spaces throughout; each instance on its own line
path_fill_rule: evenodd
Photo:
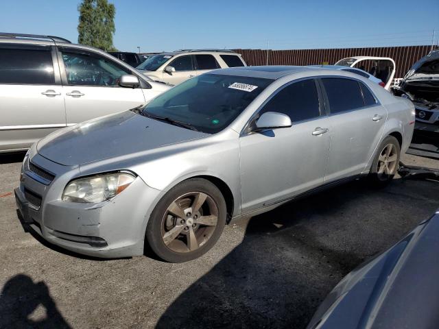
M 175 85 L 215 69 L 237 66 L 247 64 L 235 51 L 191 49 L 151 56 L 137 70 L 152 80 Z

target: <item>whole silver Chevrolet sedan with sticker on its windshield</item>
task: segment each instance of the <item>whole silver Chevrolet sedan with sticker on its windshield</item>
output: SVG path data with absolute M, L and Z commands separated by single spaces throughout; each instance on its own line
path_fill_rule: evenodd
M 359 75 L 222 69 L 145 106 L 54 132 L 23 161 L 16 202 L 47 241 L 82 254 L 182 262 L 230 219 L 368 175 L 389 182 L 414 106 Z

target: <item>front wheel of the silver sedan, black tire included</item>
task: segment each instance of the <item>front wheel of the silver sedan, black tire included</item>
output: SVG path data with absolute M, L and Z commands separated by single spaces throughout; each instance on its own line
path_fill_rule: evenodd
M 159 258 L 170 263 L 187 262 L 215 245 L 226 218 L 226 202 L 217 186 L 193 178 L 171 188 L 158 202 L 145 238 Z

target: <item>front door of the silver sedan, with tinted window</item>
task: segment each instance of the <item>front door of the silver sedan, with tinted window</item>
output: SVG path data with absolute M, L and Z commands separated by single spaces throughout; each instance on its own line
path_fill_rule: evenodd
M 316 82 L 309 79 L 281 87 L 261 108 L 259 115 L 285 113 L 293 125 L 240 138 L 243 213 L 323 184 L 330 140 L 321 107 Z

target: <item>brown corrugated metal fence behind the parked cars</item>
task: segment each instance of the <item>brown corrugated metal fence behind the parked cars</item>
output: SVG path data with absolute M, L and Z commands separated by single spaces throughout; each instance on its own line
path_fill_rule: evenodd
M 395 78 L 403 77 L 410 66 L 427 55 L 431 46 L 346 48 L 346 49 L 233 49 L 241 53 L 248 65 L 313 65 L 335 64 L 342 58 L 351 56 L 390 57 L 396 63 Z

